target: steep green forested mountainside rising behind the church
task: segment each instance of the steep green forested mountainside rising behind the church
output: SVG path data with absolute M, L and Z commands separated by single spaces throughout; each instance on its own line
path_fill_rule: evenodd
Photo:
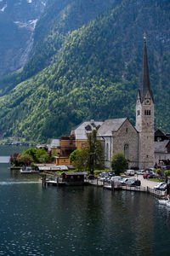
M 144 32 L 156 128 L 169 131 L 168 0 L 56 0 L 46 11 L 23 72 L 1 81 L 3 136 L 45 142 L 84 119 L 134 121 Z

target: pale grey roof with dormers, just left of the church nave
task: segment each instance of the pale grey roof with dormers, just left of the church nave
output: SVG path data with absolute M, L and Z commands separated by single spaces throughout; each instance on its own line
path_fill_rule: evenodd
M 99 125 L 102 125 L 103 122 L 99 121 L 85 121 L 81 125 L 78 125 L 75 129 L 76 140 L 87 140 L 87 134 L 94 131 Z

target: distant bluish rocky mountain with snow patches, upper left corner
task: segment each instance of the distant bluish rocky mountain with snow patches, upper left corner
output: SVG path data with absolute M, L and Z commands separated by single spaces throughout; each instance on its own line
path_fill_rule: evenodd
M 47 0 L 0 1 L 0 75 L 26 64 L 33 32 Z

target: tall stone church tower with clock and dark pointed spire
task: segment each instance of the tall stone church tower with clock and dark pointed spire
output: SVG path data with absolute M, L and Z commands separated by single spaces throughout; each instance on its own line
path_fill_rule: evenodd
M 154 166 L 154 98 L 150 89 L 146 38 L 143 68 L 136 102 L 136 128 L 139 131 L 139 169 Z

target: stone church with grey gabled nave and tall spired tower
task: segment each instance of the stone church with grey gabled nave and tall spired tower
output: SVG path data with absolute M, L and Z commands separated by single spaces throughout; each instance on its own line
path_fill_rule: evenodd
M 116 151 L 125 154 L 129 168 L 154 167 L 154 98 L 150 89 L 146 38 L 141 82 L 136 99 L 136 125 L 127 118 L 107 119 L 99 127 L 98 137 L 104 141 L 105 167 L 111 167 Z

